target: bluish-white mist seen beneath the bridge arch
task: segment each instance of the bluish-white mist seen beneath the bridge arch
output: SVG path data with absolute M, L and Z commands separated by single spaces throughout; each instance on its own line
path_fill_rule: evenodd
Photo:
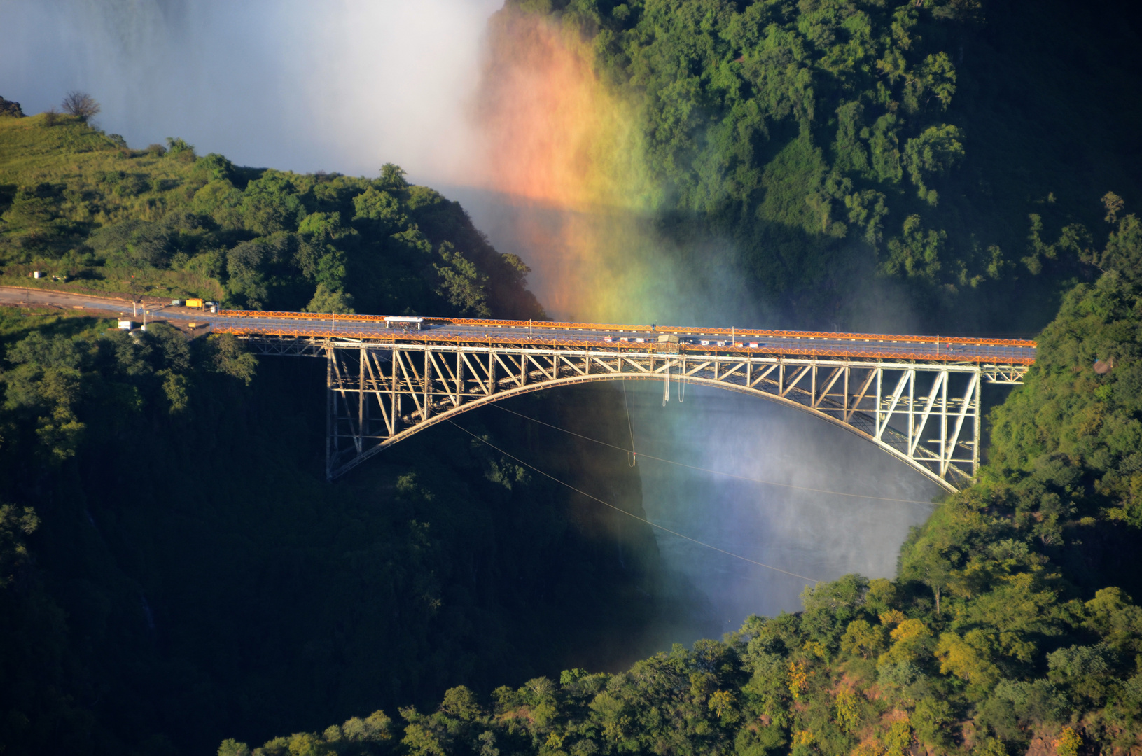
M 649 518 L 783 570 L 834 580 L 849 572 L 895 573 L 909 528 L 932 507 L 887 499 L 928 500 L 931 481 L 872 444 L 809 415 L 753 396 L 691 386 L 679 402 L 661 403 L 658 386 L 628 387 L 641 449 L 643 507 Z M 794 486 L 884 496 L 854 499 L 767 486 L 679 471 L 649 459 L 687 464 Z M 660 538 L 662 562 L 708 598 L 689 638 L 737 629 L 750 613 L 773 616 L 799 606 L 803 581 L 738 560 Z M 711 629 L 711 626 L 714 629 Z M 683 635 L 683 637 L 685 637 Z M 689 640 L 687 638 L 687 640 Z

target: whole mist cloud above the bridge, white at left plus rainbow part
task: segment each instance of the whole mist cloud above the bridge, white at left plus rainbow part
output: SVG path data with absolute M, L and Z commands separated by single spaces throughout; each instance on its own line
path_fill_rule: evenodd
M 396 162 L 456 188 L 556 316 L 708 322 L 710 301 L 746 299 L 724 296 L 732 256 L 709 240 L 701 276 L 676 272 L 638 105 L 598 80 L 589 43 L 500 5 L 8 0 L 0 95 L 37 112 L 83 89 L 131 145 L 180 136 L 240 164 Z

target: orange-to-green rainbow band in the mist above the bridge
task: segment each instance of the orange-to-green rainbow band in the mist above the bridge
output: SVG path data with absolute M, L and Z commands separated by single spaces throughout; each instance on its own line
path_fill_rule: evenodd
M 637 105 L 600 81 L 578 32 L 505 9 L 489 25 L 473 119 L 484 163 L 473 184 L 510 206 L 509 236 L 556 316 L 649 322 L 678 279 L 652 211 Z

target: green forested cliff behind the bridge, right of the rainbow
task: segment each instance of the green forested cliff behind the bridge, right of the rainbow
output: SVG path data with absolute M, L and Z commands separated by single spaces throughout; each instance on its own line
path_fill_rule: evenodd
M 662 233 L 682 249 L 694 234 L 732 240 L 779 317 L 859 321 L 895 291 L 933 331 L 1034 331 L 1083 275 L 1067 251 L 1089 246 L 1097 198 L 1142 200 L 1125 5 L 510 0 L 501 13 L 547 14 L 590 41 L 600 78 L 636 104 Z

